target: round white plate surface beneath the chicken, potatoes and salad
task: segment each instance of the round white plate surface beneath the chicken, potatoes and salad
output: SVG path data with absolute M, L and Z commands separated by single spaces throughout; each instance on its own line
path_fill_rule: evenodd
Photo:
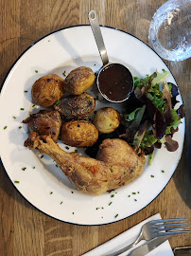
M 127 65 L 133 76 L 151 74 L 156 68 L 159 72 L 163 68 L 168 70 L 152 49 L 130 34 L 110 27 L 101 27 L 101 31 L 110 61 Z M 165 188 L 182 155 L 184 120 L 179 132 L 174 135 L 179 149 L 174 153 L 167 152 L 165 148 L 158 150 L 152 165 L 146 163 L 143 174 L 130 185 L 100 196 L 78 192 L 49 156 L 41 158 L 41 155 L 23 146 L 27 127 L 22 120 L 28 117 L 29 112 L 37 112 L 38 109 L 31 103 L 33 82 L 49 73 L 63 77 L 64 71 L 68 74 L 80 65 L 89 66 L 94 71 L 101 66 L 89 26 L 61 29 L 26 50 L 9 71 L 1 91 L 0 154 L 11 182 L 37 209 L 64 222 L 108 224 L 142 210 Z M 176 84 L 171 74 L 168 82 Z M 90 93 L 96 96 L 97 91 L 91 88 Z M 102 101 L 100 96 L 99 99 L 100 102 L 96 101 L 97 109 L 101 106 L 121 108 L 120 104 Z M 182 103 L 181 96 L 178 100 Z M 5 126 L 7 129 L 4 129 Z M 72 147 L 66 150 L 62 143 L 60 145 L 67 152 L 75 150 Z M 23 168 L 26 170 L 23 171 Z

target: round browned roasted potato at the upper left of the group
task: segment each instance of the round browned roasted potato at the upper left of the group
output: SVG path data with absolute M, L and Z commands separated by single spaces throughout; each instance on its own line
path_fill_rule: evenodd
M 34 82 L 32 86 L 32 101 L 48 107 L 61 99 L 63 95 L 63 80 L 58 75 L 46 75 Z

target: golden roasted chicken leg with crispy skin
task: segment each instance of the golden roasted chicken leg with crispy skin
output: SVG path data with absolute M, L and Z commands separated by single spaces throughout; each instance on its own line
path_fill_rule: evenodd
M 145 155 L 137 155 L 130 145 L 119 138 L 105 139 L 100 145 L 98 159 L 66 153 L 51 137 L 32 133 L 26 147 L 49 155 L 78 191 L 92 195 L 112 191 L 127 185 L 142 174 Z

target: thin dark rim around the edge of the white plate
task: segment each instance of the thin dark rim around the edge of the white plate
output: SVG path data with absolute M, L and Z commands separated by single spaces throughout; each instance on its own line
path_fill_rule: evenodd
M 49 35 L 52 35 L 52 34 L 54 34 L 54 33 L 57 33 L 57 32 L 59 32 L 59 31 L 61 31 L 61 30 L 68 29 L 68 28 L 73 28 L 73 27 L 91 27 L 91 26 L 90 26 L 90 25 L 86 25 L 86 24 L 85 24 L 85 25 L 82 25 L 82 24 L 81 24 L 81 25 L 74 25 L 74 26 L 69 26 L 69 27 L 62 27 L 62 28 L 59 28 L 59 29 L 57 29 L 57 30 L 54 30 L 54 31 L 52 31 L 52 32 L 50 32 L 50 33 L 45 34 L 43 37 L 41 37 L 40 39 L 38 39 L 37 41 L 35 41 L 33 44 L 31 44 L 30 46 L 26 47 L 26 49 L 18 56 L 18 58 L 14 61 L 14 63 L 10 65 L 9 70 L 8 70 L 8 72 L 6 73 L 6 76 L 5 76 L 5 78 L 4 78 L 3 82 L 2 82 L 2 85 L 1 85 L 1 87 L 0 87 L 0 95 L 1 95 L 2 89 L 3 89 L 4 85 L 5 85 L 5 82 L 7 81 L 8 77 L 9 77 L 9 73 L 11 72 L 12 68 L 14 67 L 15 64 L 17 64 L 17 62 L 22 58 L 22 56 L 26 53 L 26 51 L 27 51 L 28 49 L 30 49 L 32 46 L 35 46 L 37 43 L 39 43 L 40 41 L 42 41 L 45 37 L 48 37 Z M 101 26 L 101 25 L 100 25 L 100 27 L 106 27 L 106 28 L 110 28 L 110 29 L 113 29 L 113 30 L 116 30 L 116 31 L 123 32 L 123 33 L 128 34 L 128 35 L 130 35 L 131 37 L 135 38 L 136 40 L 140 41 L 140 42 L 143 43 L 145 46 L 148 46 L 148 45 L 147 45 L 145 42 L 143 42 L 141 39 L 137 38 L 136 36 L 130 34 L 129 32 L 126 32 L 126 31 L 124 31 L 124 30 L 122 30 L 122 29 L 118 29 L 118 28 L 116 28 L 116 27 L 110 27 L 110 26 Z M 165 64 L 165 61 L 162 59 L 162 57 L 160 57 L 159 54 L 158 54 L 157 52 L 155 52 L 154 49 L 151 48 L 151 46 L 148 46 L 148 48 L 151 49 L 151 50 L 161 59 L 161 61 Z M 165 65 L 166 65 L 167 68 L 169 69 L 171 76 L 173 77 L 174 81 L 176 82 L 176 80 L 175 80 L 175 78 L 174 78 L 174 76 L 173 76 L 173 74 L 172 74 L 170 68 L 168 67 L 167 64 L 165 64 Z M 177 87 L 179 88 L 179 84 L 178 84 L 177 82 L 176 82 L 176 84 L 177 84 Z M 181 92 L 180 88 L 179 88 L 179 91 Z M 181 94 L 181 98 L 182 98 L 182 94 Z M 182 104 L 183 104 L 183 99 L 182 99 Z M 183 135 L 183 141 L 182 141 L 182 152 L 183 152 L 184 141 L 185 141 L 185 129 L 186 129 L 186 119 L 185 119 L 185 117 L 184 117 L 184 135 Z M 178 160 L 177 166 L 176 166 L 176 168 L 175 168 L 175 171 L 173 172 L 173 174 L 171 174 L 169 180 L 168 180 L 167 183 L 165 184 L 165 187 L 168 185 L 169 181 L 171 180 L 171 178 L 172 178 L 173 175 L 175 174 L 175 172 L 176 172 L 176 170 L 177 170 L 177 167 L 178 167 L 178 165 L 180 164 L 181 159 L 182 159 L 182 153 L 181 153 L 181 155 L 180 155 L 180 157 L 179 157 L 179 160 Z M 9 178 L 9 181 L 10 181 L 11 185 L 13 186 L 13 188 L 16 189 L 17 192 L 19 192 L 19 194 L 26 200 L 27 203 L 29 203 L 30 206 L 34 207 L 36 210 L 40 210 L 38 207 L 36 207 L 35 205 L 33 205 L 33 204 L 22 194 L 22 192 L 20 192 L 20 191 L 18 190 L 18 188 L 14 185 L 14 183 L 12 182 L 12 180 L 11 180 L 10 177 L 9 177 L 8 172 L 6 171 L 6 168 L 5 168 L 5 166 L 4 166 L 4 164 L 3 164 L 3 161 L 2 161 L 2 159 L 1 159 L 1 155 L 0 155 L 0 165 L 3 167 L 3 170 L 4 170 L 5 173 L 7 174 L 8 178 Z M 50 218 L 53 218 L 53 219 L 55 219 L 55 220 L 57 220 L 57 221 L 61 221 L 61 222 L 63 222 L 63 223 L 67 223 L 67 224 L 78 225 L 78 226 L 87 226 L 87 227 L 109 225 L 109 224 L 113 224 L 113 223 L 116 223 L 116 222 L 125 220 L 125 219 L 129 218 L 130 216 L 133 216 L 133 215 L 136 214 L 137 212 L 139 212 L 139 211 L 144 210 L 145 208 L 147 208 L 148 205 L 151 204 L 151 203 L 165 190 L 165 187 L 164 187 L 163 190 L 162 190 L 161 192 L 159 192 L 144 208 L 135 211 L 134 213 L 130 214 L 130 215 L 127 216 L 127 217 L 124 217 L 124 218 L 122 218 L 122 219 L 120 219 L 120 220 L 113 220 L 112 222 L 109 222 L 109 223 L 101 223 L 101 224 L 80 224 L 80 223 L 74 223 L 74 222 L 64 221 L 64 220 L 61 220 L 61 219 L 59 219 L 59 218 L 57 218 L 57 217 L 51 216 L 50 214 L 44 212 L 43 210 L 40 210 L 40 211 L 43 212 L 43 214 L 45 214 L 46 216 L 48 216 L 48 217 L 50 217 Z

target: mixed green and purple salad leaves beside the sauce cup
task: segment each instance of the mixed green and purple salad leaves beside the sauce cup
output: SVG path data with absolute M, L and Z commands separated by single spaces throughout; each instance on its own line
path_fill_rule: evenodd
M 143 150 L 151 164 L 154 149 L 165 144 L 166 150 L 173 152 L 179 147 L 173 134 L 178 131 L 184 117 L 183 105 L 175 110 L 179 95 L 177 86 L 165 82 L 169 72 L 157 71 L 143 79 L 134 78 L 134 94 L 127 101 L 124 113 L 125 134 L 119 137 L 129 142 L 135 150 Z

